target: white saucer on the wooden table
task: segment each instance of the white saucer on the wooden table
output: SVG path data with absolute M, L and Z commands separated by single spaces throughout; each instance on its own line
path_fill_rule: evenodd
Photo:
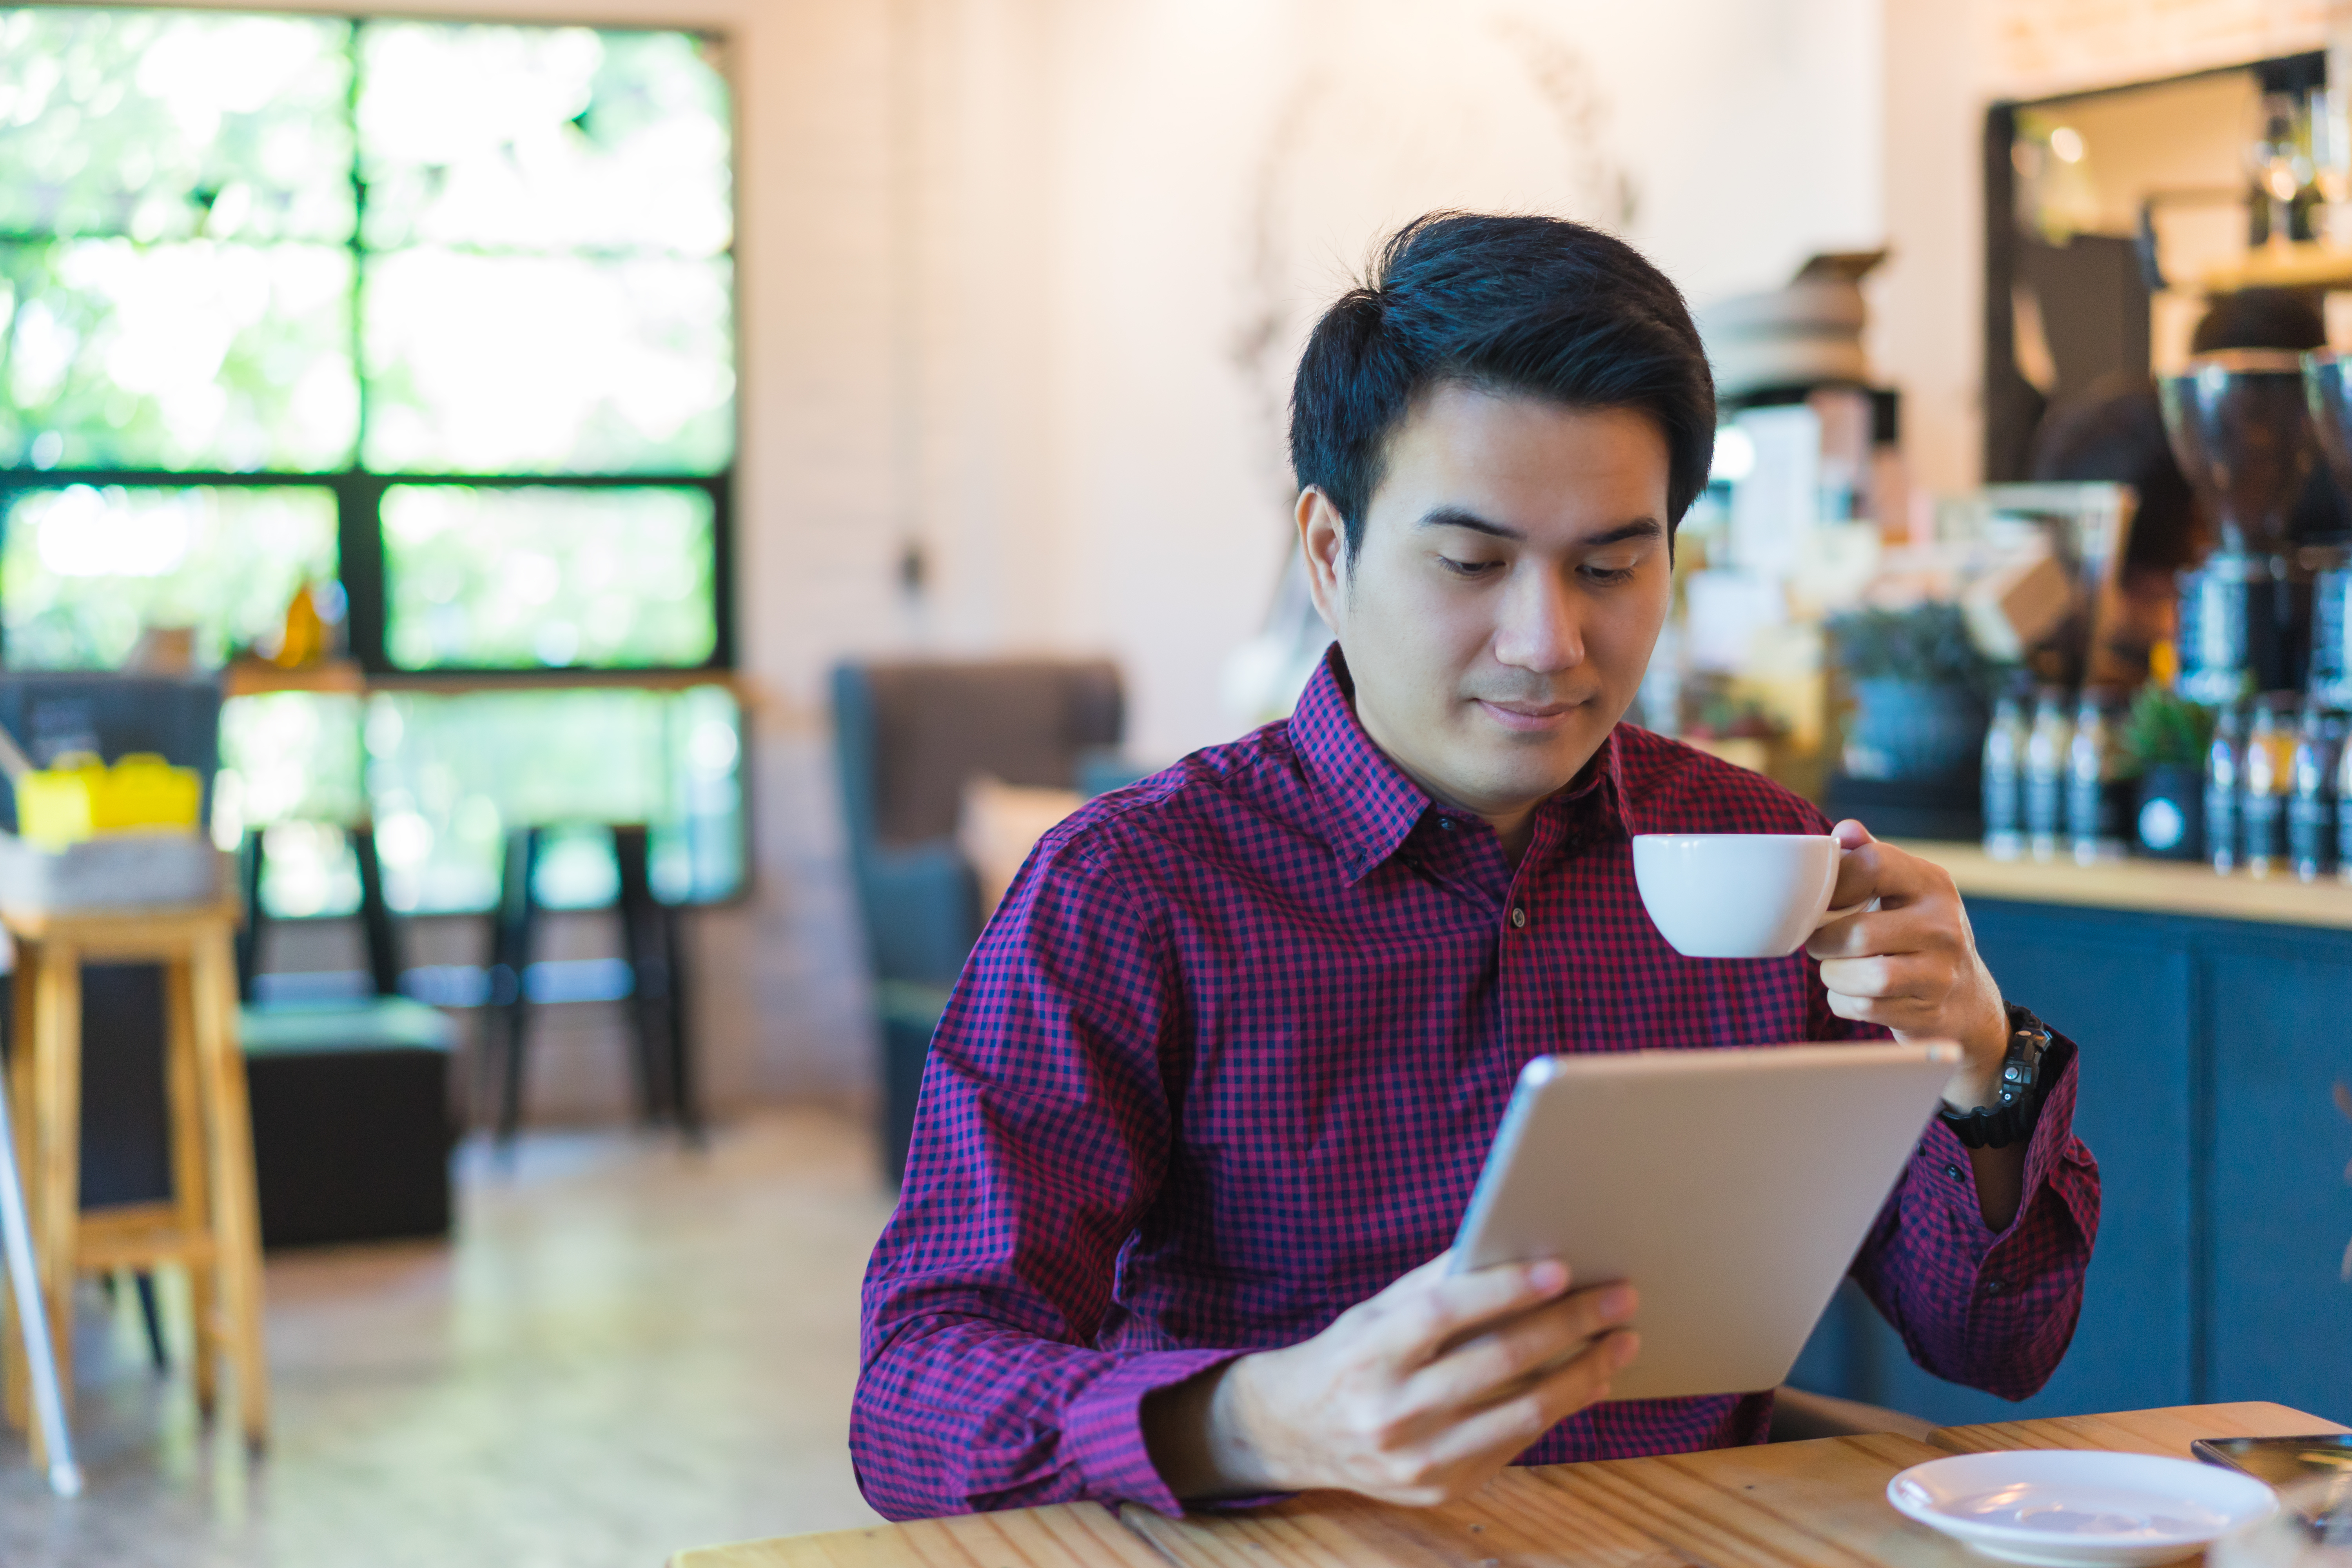
M 2270 1516 L 2253 1476 L 2145 1453 L 2016 1448 L 1912 1465 L 1896 1512 L 1985 1556 L 2037 1568 L 2169 1563 Z

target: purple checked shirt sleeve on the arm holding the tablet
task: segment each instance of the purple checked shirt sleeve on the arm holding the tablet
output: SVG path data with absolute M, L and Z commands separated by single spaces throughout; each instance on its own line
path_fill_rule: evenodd
M 849 1422 L 891 1519 L 1178 1502 L 1143 1399 L 1232 1352 L 1096 1349 L 1169 1159 L 1167 943 L 1065 825 L 981 936 L 931 1039 L 898 1211 L 866 1269 Z

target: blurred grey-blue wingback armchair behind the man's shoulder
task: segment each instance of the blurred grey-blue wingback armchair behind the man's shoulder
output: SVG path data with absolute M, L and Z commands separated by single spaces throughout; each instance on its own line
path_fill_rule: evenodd
M 882 1034 L 882 1159 L 906 1168 L 931 1030 L 978 940 L 964 783 L 1070 790 L 1124 733 L 1110 661 L 844 663 L 833 733 Z M 1096 776 L 1120 776 L 1096 766 Z

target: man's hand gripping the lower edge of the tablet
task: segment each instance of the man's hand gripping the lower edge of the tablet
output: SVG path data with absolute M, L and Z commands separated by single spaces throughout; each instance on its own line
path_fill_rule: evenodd
M 1625 1284 L 1569 1293 L 1559 1262 L 1446 1274 L 1439 1255 L 1312 1340 L 1152 1394 L 1145 1436 L 1178 1497 L 1451 1502 L 1609 1396 L 1635 1305 Z

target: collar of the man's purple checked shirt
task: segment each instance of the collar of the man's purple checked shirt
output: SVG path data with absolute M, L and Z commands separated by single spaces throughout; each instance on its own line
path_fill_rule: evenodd
M 1308 679 L 1291 712 L 1291 745 L 1324 802 L 1324 827 L 1348 882 L 1362 882 L 1411 837 L 1432 811 L 1428 792 L 1364 733 L 1355 717 L 1355 682 L 1334 642 Z M 1630 835 L 1625 773 L 1616 731 L 1602 741 L 1585 771 L 1566 790 L 1536 806 L 1590 823 L 1595 832 Z

